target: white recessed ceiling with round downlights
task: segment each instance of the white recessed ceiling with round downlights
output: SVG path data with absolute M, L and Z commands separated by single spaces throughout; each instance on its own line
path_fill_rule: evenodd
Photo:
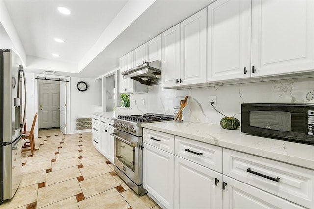
M 98 78 L 118 68 L 119 57 L 206 7 L 212 1 L 137 0 L 135 2 L 132 0 L 129 7 L 127 7 L 127 0 L 5 0 L 4 2 L 28 57 L 26 67 L 28 67 L 27 63 L 36 66 L 34 65 L 36 60 L 37 62 L 40 60 L 42 64 L 41 67 L 33 67 L 34 69 L 28 67 L 27 70 L 43 73 L 45 68 L 52 70 L 55 61 L 63 64 L 64 69 L 67 69 L 66 66 L 75 66 L 75 73 L 78 74 L 73 74 L 73 70 L 69 70 L 72 75 Z M 144 7 L 145 11 L 139 9 L 139 16 L 135 16 L 136 19 L 134 18 L 135 20 L 129 24 L 131 18 L 125 10 L 134 7 L 135 3 L 147 4 L 147 8 Z M 71 15 L 60 14 L 57 10 L 58 6 L 70 9 Z M 133 10 L 129 11 L 131 13 L 137 11 L 136 8 L 131 10 Z M 127 24 L 126 28 L 119 34 L 114 34 L 112 28 L 114 26 L 123 28 L 123 24 Z M 54 38 L 61 38 L 65 42 L 57 43 Z M 105 43 L 106 41 L 108 43 Z M 57 53 L 60 57 L 53 57 L 52 53 Z M 68 74 L 66 70 L 59 71 L 58 67 L 54 70 L 58 75 Z

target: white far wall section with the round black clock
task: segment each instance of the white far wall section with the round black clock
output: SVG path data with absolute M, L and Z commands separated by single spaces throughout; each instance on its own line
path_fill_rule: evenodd
M 77 83 L 79 81 L 87 83 L 88 89 L 86 91 L 78 91 Z M 71 133 L 83 132 L 75 131 L 75 118 L 92 117 L 93 112 L 97 111 L 97 108 L 102 105 L 101 84 L 99 80 L 71 77 Z

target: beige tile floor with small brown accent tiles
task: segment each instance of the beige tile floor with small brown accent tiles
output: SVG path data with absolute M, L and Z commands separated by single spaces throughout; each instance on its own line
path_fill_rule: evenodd
M 35 152 L 22 152 L 22 181 L 1 209 L 160 209 L 137 196 L 92 145 L 92 134 L 39 131 Z

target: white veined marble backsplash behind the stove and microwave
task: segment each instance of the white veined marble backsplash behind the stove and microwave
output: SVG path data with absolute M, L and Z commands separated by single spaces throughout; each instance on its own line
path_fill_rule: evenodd
M 216 109 L 224 115 L 241 121 L 241 103 L 314 103 L 305 95 L 314 90 L 314 78 L 296 78 L 184 90 L 162 89 L 161 85 L 148 86 L 148 93 L 133 94 L 131 108 L 116 108 L 115 114 L 174 114 L 174 107 L 189 96 L 184 108 L 184 121 L 219 124 L 224 116 L 209 104 L 209 96 L 216 96 Z M 144 105 L 142 105 L 144 100 Z

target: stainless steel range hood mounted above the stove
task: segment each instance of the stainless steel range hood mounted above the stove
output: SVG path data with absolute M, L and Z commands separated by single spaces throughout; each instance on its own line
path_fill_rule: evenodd
M 157 85 L 161 83 L 161 61 L 145 62 L 121 74 L 123 79 L 131 78 L 145 85 Z

